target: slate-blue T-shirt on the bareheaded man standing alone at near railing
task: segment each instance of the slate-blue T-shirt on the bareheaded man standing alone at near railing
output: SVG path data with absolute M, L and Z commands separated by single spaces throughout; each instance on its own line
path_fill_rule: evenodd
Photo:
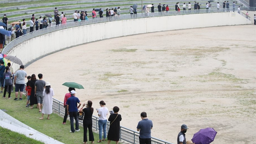
M 140 138 L 151 138 L 151 127 L 153 123 L 148 118 L 139 121 L 137 129 L 140 129 Z

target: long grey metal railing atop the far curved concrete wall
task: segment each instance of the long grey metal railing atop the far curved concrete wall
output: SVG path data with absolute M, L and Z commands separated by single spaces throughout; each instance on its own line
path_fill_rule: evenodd
M 230 12 L 232 12 L 233 8 L 230 8 Z M 80 22 L 72 22 L 72 23 L 66 23 L 58 26 L 52 26 L 45 29 L 40 29 L 38 31 L 30 32 L 26 35 L 23 35 L 21 37 L 16 38 L 15 40 L 12 40 L 4 49 L 3 54 L 7 54 L 12 49 L 15 48 L 15 46 L 19 45 L 20 43 L 23 43 L 27 40 L 30 40 L 34 37 L 38 37 L 40 35 L 46 35 L 50 32 L 55 32 L 62 29 L 68 29 L 76 26 L 84 26 L 94 23 L 104 23 L 109 21 L 116 21 L 116 20 L 129 20 L 129 19 L 137 19 L 137 18 L 145 18 L 145 17 L 160 17 L 160 16 L 171 16 L 171 15 L 182 15 L 182 14 L 203 14 L 203 13 L 220 13 L 224 12 L 225 9 L 200 9 L 200 10 L 186 10 L 186 11 L 170 11 L 170 12 L 155 12 L 155 13 L 138 13 L 138 14 L 121 14 L 120 16 L 115 17 L 102 17 L 102 18 L 95 18 L 95 19 L 89 19 L 89 20 L 83 20 Z M 250 18 L 250 17 L 249 17 Z

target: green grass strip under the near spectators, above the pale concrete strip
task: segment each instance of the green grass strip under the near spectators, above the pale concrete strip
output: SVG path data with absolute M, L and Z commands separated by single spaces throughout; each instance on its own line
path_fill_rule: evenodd
M 25 96 L 23 96 L 22 101 L 14 101 L 15 95 L 13 92 L 11 96 L 11 99 L 1 97 L 0 101 L 0 109 L 6 109 L 7 114 L 28 125 L 29 127 L 32 127 L 33 129 L 38 130 L 39 132 L 42 132 L 45 135 L 48 135 L 49 137 L 52 137 L 65 144 L 83 143 L 83 127 L 79 126 L 81 130 L 80 132 L 70 133 L 70 121 L 67 121 L 66 125 L 63 125 L 63 118 L 55 113 L 50 115 L 49 120 L 47 120 L 47 115 L 44 115 L 44 120 L 39 120 L 41 117 L 41 114 L 38 113 L 39 109 L 35 108 L 36 106 L 34 106 L 34 109 L 26 108 Z M 89 138 L 88 132 L 87 138 Z M 95 143 L 97 143 L 96 141 L 99 140 L 99 135 L 96 133 L 94 133 L 94 140 Z M 0 144 L 2 143 L 0 142 Z M 102 141 L 101 144 L 107 144 L 107 141 Z M 111 144 L 115 143 L 111 141 Z

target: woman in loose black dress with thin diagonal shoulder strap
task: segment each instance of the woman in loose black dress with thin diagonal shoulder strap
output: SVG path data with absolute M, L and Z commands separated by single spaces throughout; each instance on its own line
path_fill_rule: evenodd
M 119 107 L 113 107 L 113 111 L 114 113 L 108 118 L 108 121 L 110 122 L 108 130 L 108 144 L 110 144 L 111 141 L 116 141 L 116 144 L 118 144 L 120 139 L 120 121 L 122 120 L 122 116 L 118 114 Z

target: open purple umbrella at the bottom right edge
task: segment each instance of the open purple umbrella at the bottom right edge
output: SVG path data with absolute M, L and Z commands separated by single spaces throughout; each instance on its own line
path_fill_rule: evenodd
M 207 127 L 206 129 L 201 129 L 199 132 L 195 133 L 191 139 L 195 144 L 209 144 L 211 143 L 217 132 L 211 128 Z

